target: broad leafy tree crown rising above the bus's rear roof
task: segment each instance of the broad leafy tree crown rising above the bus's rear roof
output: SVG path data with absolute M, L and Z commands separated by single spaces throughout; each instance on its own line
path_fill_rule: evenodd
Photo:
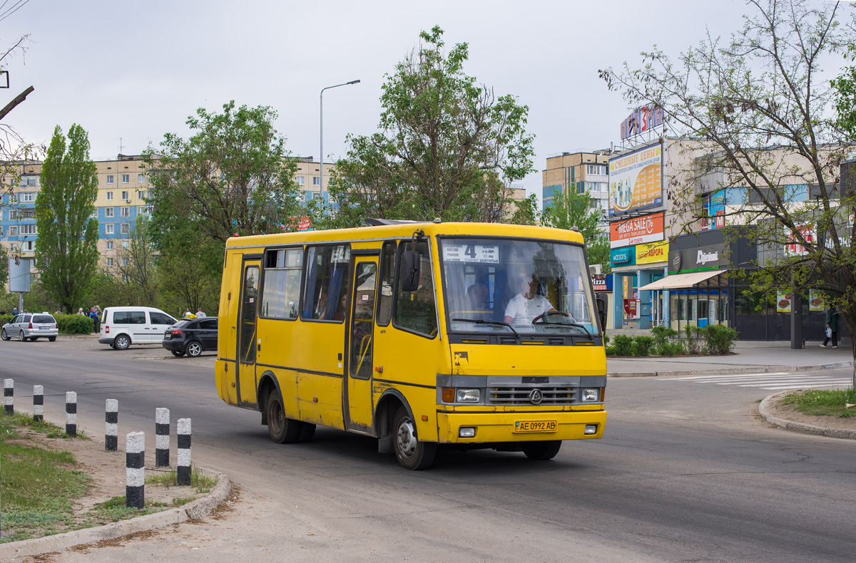
M 274 120 L 268 106 L 235 110 L 233 100 L 222 114 L 199 108 L 188 117 L 196 131 L 190 139 L 166 133 L 159 153 L 150 147 L 143 157 L 155 224 L 192 218 L 200 235 L 222 243 L 230 236 L 293 230 L 302 215 L 297 163 Z M 167 210 L 178 215 L 164 216 Z

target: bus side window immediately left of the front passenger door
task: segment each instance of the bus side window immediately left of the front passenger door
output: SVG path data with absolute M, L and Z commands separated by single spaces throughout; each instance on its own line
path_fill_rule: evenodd
M 350 245 L 310 246 L 301 317 L 343 321 L 348 311 Z

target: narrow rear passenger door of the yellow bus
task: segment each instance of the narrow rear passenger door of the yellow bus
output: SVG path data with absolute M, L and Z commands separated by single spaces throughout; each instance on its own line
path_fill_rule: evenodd
M 238 311 L 238 405 L 256 405 L 256 306 L 259 297 L 259 260 L 244 261 L 241 310 Z

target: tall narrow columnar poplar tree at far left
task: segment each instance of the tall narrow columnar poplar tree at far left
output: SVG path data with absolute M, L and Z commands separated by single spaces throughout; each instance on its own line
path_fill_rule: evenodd
M 56 126 L 42 164 L 41 185 L 35 248 L 40 282 L 70 314 L 83 305 L 98 265 L 98 221 L 92 218 L 98 176 L 83 127 L 68 129 L 67 147 L 62 128 Z

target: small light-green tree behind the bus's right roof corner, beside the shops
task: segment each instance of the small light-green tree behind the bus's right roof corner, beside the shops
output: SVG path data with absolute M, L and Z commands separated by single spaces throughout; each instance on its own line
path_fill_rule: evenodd
M 601 231 L 603 211 L 591 206 L 591 194 L 576 187 L 553 195 L 553 203 L 541 214 L 541 224 L 553 228 L 576 228 L 583 235 L 589 264 L 601 264 L 609 273 L 609 238 Z

